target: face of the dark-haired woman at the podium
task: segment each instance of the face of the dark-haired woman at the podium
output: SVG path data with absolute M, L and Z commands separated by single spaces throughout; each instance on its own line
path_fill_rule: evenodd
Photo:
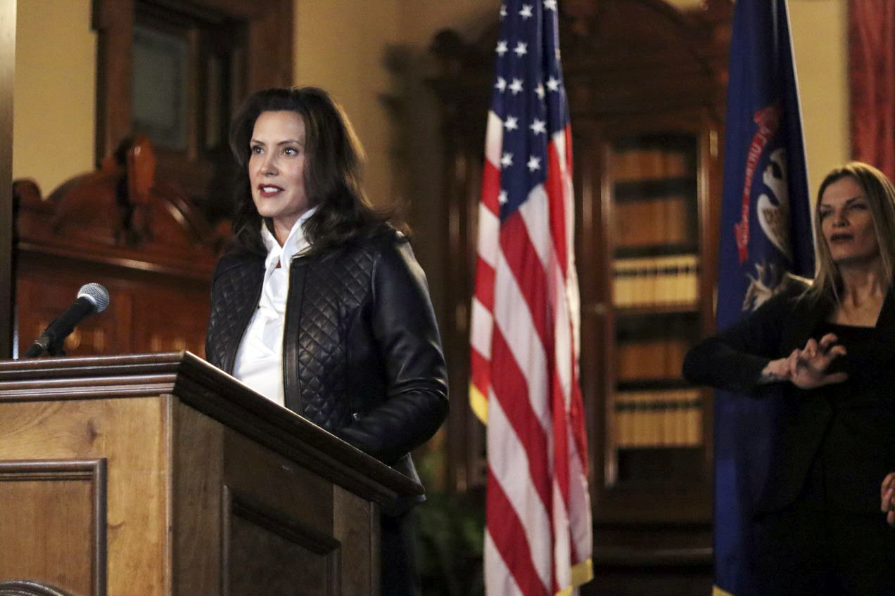
M 251 198 L 262 217 L 274 222 L 282 245 L 311 208 L 304 184 L 304 121 L 294 112 L 262 112 L 249 141 Z

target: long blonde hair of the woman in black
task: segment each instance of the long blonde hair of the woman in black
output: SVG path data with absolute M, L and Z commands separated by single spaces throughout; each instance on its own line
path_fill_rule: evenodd
M 814 283 L 807 290 L 808 298 L 832 298 L 840 300 L 842 276 L 839 266 L 833 262 L 830 248 L 821 230 L 821 198 L 823 192 L 833 182 L 850 176 L 861 187 L 861 191 L 870 206 L 870 214 L 874 220 L 876 242 L 880 248 L 882 269 L 885 275 L 886 288 L 892 285 L 892 264 L 895 263 L 895 187 L 886 175 L 870 164 L 849 162 L 836 168 L 821 182 L 814 203 L 814 246 L 816 247 L 816 264 Z

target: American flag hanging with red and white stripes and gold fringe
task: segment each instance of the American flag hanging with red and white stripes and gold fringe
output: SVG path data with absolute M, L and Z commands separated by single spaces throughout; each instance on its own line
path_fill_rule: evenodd
M 540 596 L 592 578 L 572 135 L 556 0 L 507 0 L 500 19 L 470 399 L 488 425 L 486 593 Z

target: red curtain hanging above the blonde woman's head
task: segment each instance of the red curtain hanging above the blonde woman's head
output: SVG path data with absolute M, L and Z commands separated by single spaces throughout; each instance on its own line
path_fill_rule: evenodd
M 895 180 L 895 0 L 849 0 L 852 157 Z

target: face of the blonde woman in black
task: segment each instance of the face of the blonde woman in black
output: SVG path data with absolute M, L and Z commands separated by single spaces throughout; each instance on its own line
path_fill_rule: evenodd
M 866 263 L 880 256 L 874 216 L 854 178 L 846 176 L 824 189 L 818 214 L 834 263 Z

